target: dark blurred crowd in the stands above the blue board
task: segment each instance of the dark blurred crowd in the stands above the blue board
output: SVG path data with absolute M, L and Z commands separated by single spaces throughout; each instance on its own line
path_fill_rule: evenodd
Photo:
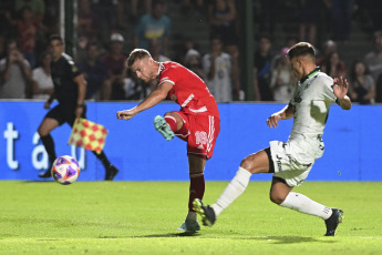
M 288 102 L 293 78 L 283 55 L 308 41 L 322 71 L 347 76 L 352 100 L 373 104 L 382 101 L 381 19 L 378 0 L 2 0 L 0 83 L 19 85 L 0 89 L 0 99 L 48 96 L 48 39 L 58 33 L 87 80 L 89 101 L 145 98 L 151 88 L 123 64 L 144 48 L 192 69 L 218 102 Z M 10 58 L 13 81 L 4 79 Z

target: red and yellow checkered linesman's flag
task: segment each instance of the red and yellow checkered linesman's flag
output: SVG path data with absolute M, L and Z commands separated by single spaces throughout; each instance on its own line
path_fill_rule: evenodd
M 100 154 L 105 145 L 107 130 L 101 124 L 96 124 L 86 119 L 78 118 L 74 121 L 69 144 L 95 151 Z

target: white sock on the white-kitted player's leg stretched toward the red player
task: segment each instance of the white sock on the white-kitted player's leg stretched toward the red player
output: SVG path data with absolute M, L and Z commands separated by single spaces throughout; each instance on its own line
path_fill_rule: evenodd
M 239 167 L 235 177 L 233 181 L 230 181 L 220 197 L 215 204 L 211 205 L 216 216 L 219 216 L 225 208 L 227 208 L 239 195 L 242 194 L 248 186 L 251 175 L 252 174 L 249 171 L 242 169 L 241 166 Z

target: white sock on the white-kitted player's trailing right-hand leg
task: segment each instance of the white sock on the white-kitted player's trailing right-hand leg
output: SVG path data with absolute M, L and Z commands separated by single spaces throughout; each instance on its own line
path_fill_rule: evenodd
M 319 216 L 322 220 L 329 218 L 332 214 L 331 208 L 310 200 L 308 196 L 295 192 L 290 192 L 280 206 L 288 207 L 300 213 Z

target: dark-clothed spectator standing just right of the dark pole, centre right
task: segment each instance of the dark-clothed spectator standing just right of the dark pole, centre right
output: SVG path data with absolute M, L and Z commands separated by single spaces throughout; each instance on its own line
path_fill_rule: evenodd
M 269 86 L 272 61 L 270 48 L 270 37 L 268 34 L 260 35 L 258 49 L 255 52 L 254 60 L 254 85 L 256 101 L 273 101 L 272 92 Z

